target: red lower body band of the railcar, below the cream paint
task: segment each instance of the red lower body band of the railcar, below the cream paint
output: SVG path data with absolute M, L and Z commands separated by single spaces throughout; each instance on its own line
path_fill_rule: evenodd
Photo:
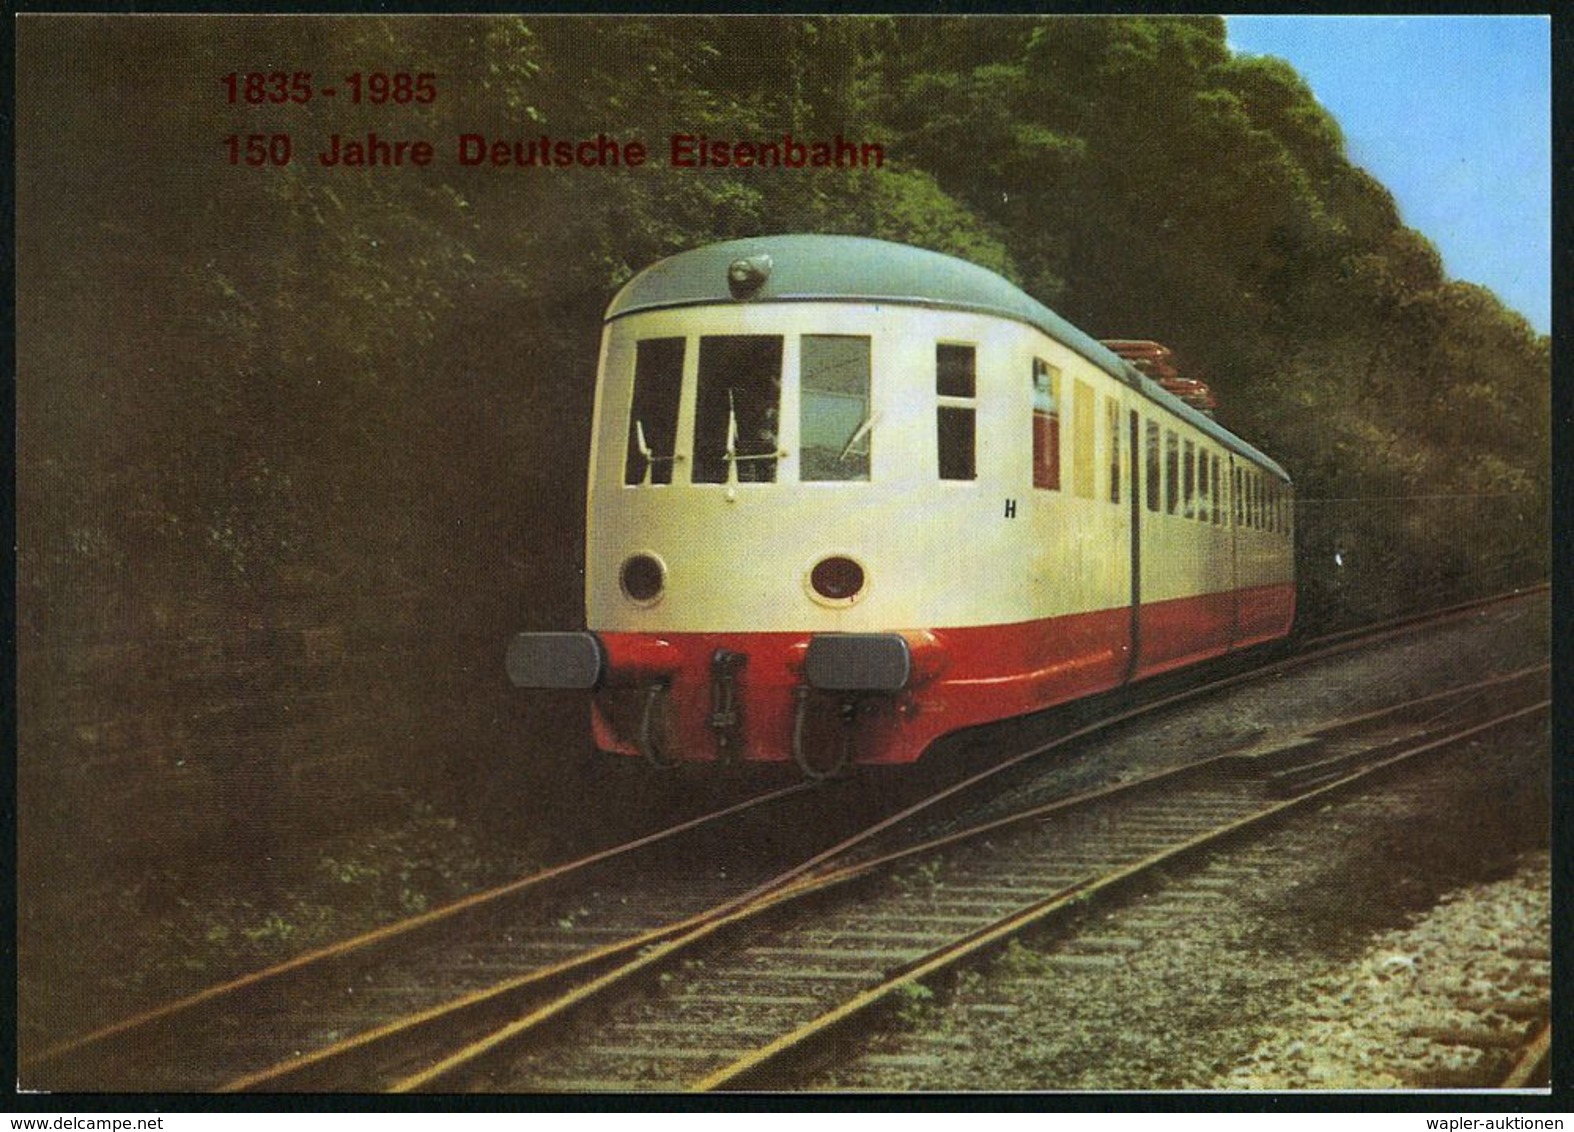
M 1135 672 L 1129 608 L 922 636 L 924 663 L 894 694 L 859 697 L 853 759 L 913 762 L 941 735 L 1026 715 L 1217 657 L 1289 631 L 1294 586 L 1144 605 Z M 792 757 L 807 633 L 601 633 L 608 677 L 595 694 L 597 745 L 637 754 L 641 735 L 680 760 Z M 718 688 L 718 650 L 746 660 Z M 666 690 L 652 697 L 653 683 Z M 804 745 L 841 742 L 839 699 L 815 693 L 803 723 Z M 653 707 L 652 707 L 653 704 Z M 645 718 L 647 712 L 650 718 Z M 718 718 L 718 715 L 721 718 Z M 818 760 L 818 759 L 817 759 Z

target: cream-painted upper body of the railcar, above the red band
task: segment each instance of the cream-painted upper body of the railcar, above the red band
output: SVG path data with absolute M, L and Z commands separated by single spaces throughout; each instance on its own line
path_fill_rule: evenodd
M 776 378 L 757 381 L 752 392 L 729 384 L 722 398 L 716 390 L 730 378 L 721 375 L 715 361 L 721 351 L 711 343 L 741 338 L 765 342 Z M 660 340 L 672 343 L 664 406 L 634 387 L 639 343 Z M 806 450 L 806 401 L 815 395 L 807 386 L 818 381 L 806 375 L 826 356 L 826 340 L 852 342 L 856 348 L 842 353 L 867 359 L 861 362 L 866 400 L 848 401 L 837 425 L 848 433 L 842 455 L 852 455 L 856 468 L 834 474 L 858 479 L 823 479 L 823 449 L 814 458 L 820 463 Z M 948 348 L 971 356 L 971 389 L 937 379 L 937 351 Z M 713 361 L 702 364 L 705 351 Z M 1058 490 L 1034 485 L 1039 364 L 1058 379 L 1064 441 Z M 774 405 L 760 408 L 762 398 Z M 589 625 L 628 633 L 891 631 L 1124 606 L 1130 463 L 1144 460 L 1130 444 L 1133 409 L 1140 424 L 1158 420 L 1203 450 L 1201 431 L 1040 329 L 1009 318 L 834 301 L 619 316 L 606 326 L 597 395 Z M 943 435 L 955 441 L 963 433 L 971 433 L 973 474 L 946 479 Z M 719 457 L 724 444 L 743 458 Z M 637 450 L 655 460 L 631 455 Z M 952 475 L 955 460 L 952 453 Z M 1243 581 L 1231 578 L 1228 565 L 1231 526 L 1152 515 L 1146 499 L 1140 510 L 1144 600 Z M 664 568 L 656 600 L 637 601 L 622 589 L 622 564 L 634 554 Z M 863 568 L 866 584 L 856 598 L 828 601 L 814 594 L 809 573 L 828 556 Z

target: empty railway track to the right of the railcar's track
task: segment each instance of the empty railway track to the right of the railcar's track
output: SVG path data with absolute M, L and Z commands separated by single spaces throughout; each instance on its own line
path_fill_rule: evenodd
M 790 1086 L 795 1058 L 905 989 L 1382 770 L 1543 712 L 1543 685 L 1533 669 L 1429 696 L 806 879 L 382 1085 Z M 1486 718 L 1454 718 L 1484 694 L 1495 701 Z M 582 1012 L 617 992 L 615 1006 Z

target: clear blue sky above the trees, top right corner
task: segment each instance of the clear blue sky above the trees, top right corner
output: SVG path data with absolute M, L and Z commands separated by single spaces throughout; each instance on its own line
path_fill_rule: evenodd
M 1454 279 L 1552 323 L 1552 24 L 1541 16 L 1231 16 L 1300 71 Z

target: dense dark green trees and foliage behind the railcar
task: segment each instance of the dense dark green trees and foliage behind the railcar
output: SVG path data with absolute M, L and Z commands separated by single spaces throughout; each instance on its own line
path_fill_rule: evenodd
M 280 65 L 442 96 L 225 102 Z M 24 860 L 88 814 L 88 863 L 271 861 L 384 787 L 529 809 L 575 751 L 524 732 L 582 742 L 579 708 L 501 655 L 579 617 L 600 312 L 721 238 L 913 242 L 1169 343 L 1299 480 L 1313 623 L 1544 568 L 1549 340 L 1217 19 L 35 20 L 16 104 Z M 258 129 L 841 132 L 888 164 L 228 165 Z M 118 790 L 198 817 L 154 836 L 94 809 Z

